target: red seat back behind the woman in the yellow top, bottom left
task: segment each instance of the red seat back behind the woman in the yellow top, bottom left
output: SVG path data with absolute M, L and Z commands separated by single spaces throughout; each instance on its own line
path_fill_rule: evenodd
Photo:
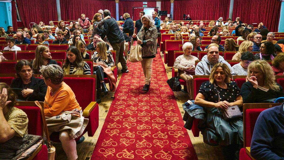
M 18 104 L 20 102 L 16 102 L 17 108 L 23 110 L 28 117 L 28 134 L 42 136 L 43 135 L 43 128 L 42 128 L 42 118 L 41 112 L 38 106 L 29 106 L 29 105 L 21 105 Z M 25 103 L 25 102 L 24 102 Z M 26 102 L 26 103 L 34 103 L 34 102 Z M 42 103 L 42 102 L 41 102 Z

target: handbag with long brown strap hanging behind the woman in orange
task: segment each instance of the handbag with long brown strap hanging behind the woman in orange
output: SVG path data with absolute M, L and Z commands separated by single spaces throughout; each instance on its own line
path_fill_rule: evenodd
M 35 101 L 36 105 L 40 108 L 41 110 L 41 117 L 42 117 L 42 122 L 43 122 L 43 132 L 45 133 L 47 142 L 49 147 L 47 147 L 48 150 L 48 160 L 55 160 L 55 147 L 51 144 L 51 141 L 49 139 L 49 133 L 48 133 L 48 129 L 47 129 L 47 124 L 46 124 L 46 120 L 45 120 L 45 115 L 43 112 L 43 106 L 41 106 L 39 104 L 38 101 Z

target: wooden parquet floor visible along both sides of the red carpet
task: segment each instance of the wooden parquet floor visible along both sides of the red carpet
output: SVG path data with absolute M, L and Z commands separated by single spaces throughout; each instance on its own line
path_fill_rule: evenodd
M 164 59 L 164 54 L 161 54 L 161 56 Z M 137 63 L 137 65 L 139 64 Z M 118 64 L 118 66 L 119 68 L 121 68 L 120 63 Z M 172 77 L 172 69 L 170 67 L 167 67 L 167 65 L 165 65 L 165 68 L 167 71 L 168 78 L 170 79 Z M 122 76 L 122 73 L 118 71 L 118 82 L 116 83 L 117 85 L 119 83 L 121 76 Z M 108 87 L 108 85 L 106 86 Z M 183 116 L 184 111 L 182 108 L 182 104 L 186 102 L 189 97 L 187 93 L 174 92 L 174 94 L 175 94 L 176 101 L 178 103 L 181 115 Z M 110 93 L 107 96 L 102 98 L 102 102 L 99 104 L 99 128 L 97 129 L 93 137 L 88 137 L 86 133 L 84 135 L 85 141 L 77 145 L 78 160 L 89 160 L 91 158 L 93 154 L 93 150 L 99 138 L 99 134 L 105 122 L 106 114 L 112 102 L 113 96 L 114 96 L 114 93 Z M 224 159 L 220 146 L 210 146 L 210 145 L 203 143 L 202 134 L 200 134 L 199 137 L 194 137 L 190 130 L 187 130 L 187 133 L 189 134 L 190 140 L 194 146 L 195 152 L 199 160 Z M 66 154 L 64 153 L 62 149 L 61 143 L 55 143 L 55 148 L 56 148 L 56 153 L 57 153 L 56 159 L 67 160 Z

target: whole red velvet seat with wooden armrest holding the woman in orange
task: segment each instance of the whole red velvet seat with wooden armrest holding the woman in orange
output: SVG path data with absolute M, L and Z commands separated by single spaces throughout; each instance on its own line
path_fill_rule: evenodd
M 89 119 L 89 123 L 81 136 L 88 132 L 88 136 L 92 137 L 99 126 L 99 105 L 95 102 L 95 77 L 95 75 L 64 75 L 64 82 L 69 85 L 74 92 L 76 100 L 80 104 L 80 107 L 82 107 L 83 116 Z M 89 107 L 92 109 L 87 111 Z M 78 137 L 76 140 L 78 140 L 80 137 Z M 58 132 L 53 133 L 50 138 L 52 141 L 60 142 Z

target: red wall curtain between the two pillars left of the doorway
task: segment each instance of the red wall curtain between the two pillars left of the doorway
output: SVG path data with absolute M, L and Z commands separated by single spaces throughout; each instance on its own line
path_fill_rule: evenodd
M 108 9 L 111 17 L 115 18 L 115 1 L 99 1 L 99 0 L 60 0 L 61 19 L 77 20 L 81 18 L 81 14 L 85 14 L 89 19 L 93 19 L 95 13 L 100 9 Z

